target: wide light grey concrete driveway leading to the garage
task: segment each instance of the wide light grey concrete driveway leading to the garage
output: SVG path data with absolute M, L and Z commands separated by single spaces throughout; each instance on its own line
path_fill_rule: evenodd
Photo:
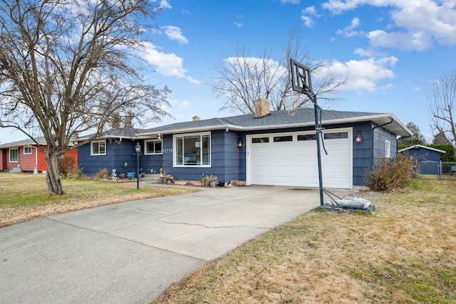
M 206 261 L 318 205 L 318 189 L 231 187 L 5 227 L 0 303 L 149 303 Z

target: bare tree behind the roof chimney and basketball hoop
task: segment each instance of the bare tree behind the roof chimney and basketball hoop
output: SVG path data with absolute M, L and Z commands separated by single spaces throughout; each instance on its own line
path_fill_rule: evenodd
M 279 58 L 273 58 L 272 50 L 254 57 L 248 47 L 238 45 L 235 56 L 225 58 L 224 63 L 217 66 L 219 76 L 211 84 L 214 95 L 225 100 L 221 110 L 244 114 L 254 112 L 254 100 L 260 95 L 269 100 L 274 110 L 303 106 L 309 99 L 305 95 L 298 98 L 291 88 L 290 58 L 311 68 L 312 86 L 318 100 L 337 100 L 334 95 L 347 78 L 336 79 L 325 61 L 316 61 L 311 56 L 303 41 L 299 32 L 291 31 Z

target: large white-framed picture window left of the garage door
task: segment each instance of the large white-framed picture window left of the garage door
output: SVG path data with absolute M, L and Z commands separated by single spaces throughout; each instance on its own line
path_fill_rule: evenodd
M 205 166 L 211 164 L 209 132 L 175 135 L 174 151 L 175 164 L 177 166 Z

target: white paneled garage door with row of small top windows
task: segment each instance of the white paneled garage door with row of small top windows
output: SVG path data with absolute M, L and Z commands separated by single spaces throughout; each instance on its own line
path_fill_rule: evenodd
M 352 187 L 351 134 L 351 129 L 325 130 L 323 187 Z M 247 142 L 247 184 L 318 187 L 315 133 L 249 135 Z

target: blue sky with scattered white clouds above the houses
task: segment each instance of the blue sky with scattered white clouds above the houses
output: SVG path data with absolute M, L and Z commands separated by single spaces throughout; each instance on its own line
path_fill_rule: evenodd
M 348 83 L 321 108 L 392 113 L 432 140 L 426 95 L 432 80 L 456 68 L 456 0 L 155 0 L 157 28 L 148 33 L 146 81 L 167 85 L 172 117 L 147 127 L 227 117 L 210 84 L 224 58 L 248 46 L 279 58 L 299 30 L 311 56 Z M 240 113 L 239 113 L 240 114 Z M 24 135 L 0 130 L 0 142 Z

